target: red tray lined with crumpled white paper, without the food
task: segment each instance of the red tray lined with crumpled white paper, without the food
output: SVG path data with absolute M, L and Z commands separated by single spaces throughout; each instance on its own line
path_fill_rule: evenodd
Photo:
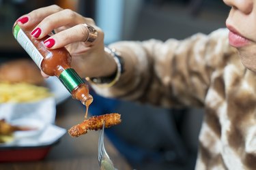
M 0 143 L 0 162 L 44 158 L 66 133 L 66 129 L 55 125 L 55 112 L 54 97 L 32 103 L 1 103 L 0 119 L 33 130 L 16 131 L 11 141 Z

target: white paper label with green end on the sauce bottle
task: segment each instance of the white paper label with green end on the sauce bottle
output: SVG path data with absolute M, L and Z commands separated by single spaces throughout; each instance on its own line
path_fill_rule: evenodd
M 29 56 L 33 59 L 36 65 L 41 69 L 41 63 L 44 57 L 37 48 L 33 45 L 33 43 L 30 41 L 29 37 L 24 33 L 22 29 L 16 24 L 14 27 L 14 37 L 20 44 L 20 46 L 23 47 L 23 49 L 29 54 Z

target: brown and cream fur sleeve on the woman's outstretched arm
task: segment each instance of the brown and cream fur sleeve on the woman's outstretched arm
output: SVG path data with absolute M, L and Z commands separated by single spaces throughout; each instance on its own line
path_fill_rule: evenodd
M 233 49 L 227 30 L 197 33 L 184 40 L 156 39 L 111 44 L 127 62 L 122 78 L 111 88 L 93 88 L 100 95 L 165 107 L 203 106 L 212 73 L 223 69 Z

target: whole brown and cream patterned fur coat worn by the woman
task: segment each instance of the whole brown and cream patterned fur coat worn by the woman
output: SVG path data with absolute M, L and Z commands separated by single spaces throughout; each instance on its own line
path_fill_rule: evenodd
M 195 169 L 256 169 L 256 75 L 229 46 L 227 29 L 178 41 L 122 41 L 128 61 L 100 95 L 162 107 L 204 107 Z M 129 60 L 127 59 L 129 57 Z

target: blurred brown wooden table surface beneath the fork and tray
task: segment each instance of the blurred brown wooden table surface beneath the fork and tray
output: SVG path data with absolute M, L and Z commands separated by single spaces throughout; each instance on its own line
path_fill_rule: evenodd
M 67 99 L 57 105 L 57 126 L 69 129 L 83 121 L 85 107 L 73 99 Z M 47 154 L 44 160 L 20 163 L 0 163 L 0 169 L 8 170 L 84 170 L 100 169 L 98 165 L 98 131 L 89 131 L 86 135 L 73 138 L 66 133 Z M 132 169 L 122 154 L 105 137 L 105 147 L 117 169 Z

